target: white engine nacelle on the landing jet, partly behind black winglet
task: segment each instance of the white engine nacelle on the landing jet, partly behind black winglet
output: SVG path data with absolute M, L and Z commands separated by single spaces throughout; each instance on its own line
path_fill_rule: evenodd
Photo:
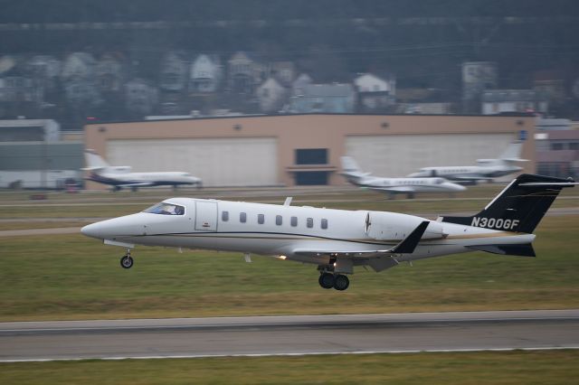
M 365 221 L 365 232 L 368 237 L 376 240 L 402 240 L 406 238 L 423 218 L 394 212 L 368 211 Z M 446 234 L 441 222 L 431 221 L 422 235 L 422 239 L 440 239 Z

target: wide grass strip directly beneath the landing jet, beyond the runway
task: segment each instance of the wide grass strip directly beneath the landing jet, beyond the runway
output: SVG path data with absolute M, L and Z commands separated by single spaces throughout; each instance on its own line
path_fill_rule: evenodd
M 0 320 L 392 313 L 579 306 L 579 217 L 546 217 L 538 258 L 470 253 L 382 273 L 357 268 L 346 292 L 318 286 L 313 265 L 241 253 L 138 247 L 81 234 L 0 239 Z

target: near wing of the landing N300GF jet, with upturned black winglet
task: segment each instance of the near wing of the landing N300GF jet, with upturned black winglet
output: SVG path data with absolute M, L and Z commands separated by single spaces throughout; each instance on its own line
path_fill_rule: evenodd
M 424 231 L 428 227 L 430 221 L 422 221 L 416 229 L 411 232 L 408 237 L 401 240 L 397 245 L 390 249 L 376 249 L 376 250 L 359 250 L 359 251 L 343 251 L 332 249 L 295 249 L 294 254 L 317 258 L 324 255 L 331 255 L 336 258 L 355 259 L 358 265 L 369 265 L 375 271 L 382 271 L 386 268 L 393 268 L 398 265 L 398 261 L 394 256 L 398 254 L 412 254 L 418 242 L 422 238 Z

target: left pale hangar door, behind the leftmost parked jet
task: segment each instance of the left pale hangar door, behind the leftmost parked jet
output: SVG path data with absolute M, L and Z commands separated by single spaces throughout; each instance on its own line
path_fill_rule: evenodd
M 107 143 L 109 164 L 133 172 L 182 171 L 204 186 L 278 184 L 278 144 L 272 137 L 122 139 Z

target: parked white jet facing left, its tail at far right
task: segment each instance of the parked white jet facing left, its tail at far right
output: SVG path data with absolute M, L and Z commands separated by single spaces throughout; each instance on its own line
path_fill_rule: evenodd
M 522 142 L 511 143 L 498 159 L 478 159 L 478 165 L 449 165 L 439 167 L 424 167 L 419 172 L 408 175 L 411 178 L 440 176 L 459 183 L 476 184 L 479 181 L 491 181 L 493 178 L 517 173 L 523 168 L 516 162 L 527 162 L 521 159 Z

